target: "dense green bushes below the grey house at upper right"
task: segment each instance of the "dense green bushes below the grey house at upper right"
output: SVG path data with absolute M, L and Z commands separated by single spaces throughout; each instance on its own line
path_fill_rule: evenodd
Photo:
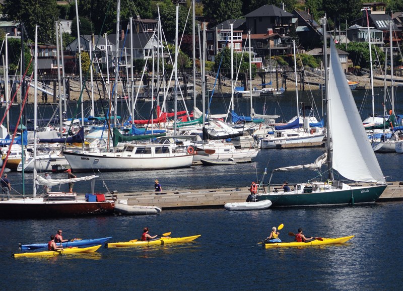
M 355 66 L 360 66 L 362 68 L 369 68 L 370 57 L 369 57 L 369 45 L 368 42 L 350 42 L 346 48 L 345 44 L 337 45 L 340 49 L 347 51 L 349 53 L 349 58 L 353 61 Z M 372 51 L 372 61 L 373 65 L 384 65 L 385 53 L 374 45 L 371 46 Z M 378 55 L 378 57 L 377 57 Z M 376 62 L 379 60 L 379 63 Z

